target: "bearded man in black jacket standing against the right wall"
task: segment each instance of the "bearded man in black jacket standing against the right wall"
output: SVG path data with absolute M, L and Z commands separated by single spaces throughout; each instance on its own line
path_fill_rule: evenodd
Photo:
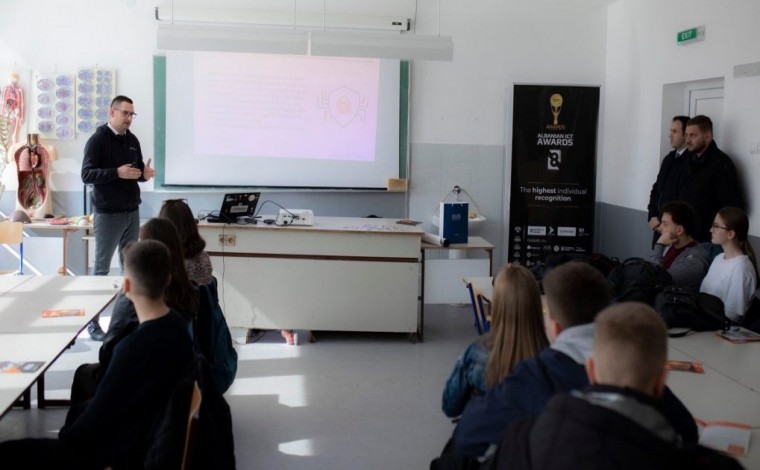
M 736 168 L 728 155 L 715 144 L 712 121 L 707 116 L 694 116 L 686 123 L 687 161 L 679 182 L 679 197 L 697 211 L 699 242 L 710 241 L 710 227 L 718 210 L 726 207 L 745 209 Z

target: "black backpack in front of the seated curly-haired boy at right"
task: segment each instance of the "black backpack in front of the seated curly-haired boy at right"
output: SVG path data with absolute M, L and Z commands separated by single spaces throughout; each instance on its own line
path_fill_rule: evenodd
M 617 302 L 636 301 L 654 305 L 654 298 L 665 286 L 673 284 L 670 273 L 662 266 L 643 258 L 628 258 L 610 271 Z

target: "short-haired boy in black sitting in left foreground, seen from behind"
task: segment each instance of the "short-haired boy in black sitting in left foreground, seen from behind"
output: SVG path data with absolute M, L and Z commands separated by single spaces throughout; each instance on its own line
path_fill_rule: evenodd
M 158 241 L 125 247 L 123 290 L 140 325 L 116 347 L 84 412 L 66 423 L 57 440 L 0 444 L 4 467 L 143 467 L 151 430 L 194 357 L 185 319 L 164 301 L 170 260 L 169 250 Z

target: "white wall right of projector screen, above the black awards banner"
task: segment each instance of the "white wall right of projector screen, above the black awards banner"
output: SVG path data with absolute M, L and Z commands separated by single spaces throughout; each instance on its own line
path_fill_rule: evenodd
M 412 69 L 414 142 L 509 144 L 513 83 L 604 81 L 606 7 L 598 3 L 443 0 L 441 34 L 454 38 L 454 61 Z

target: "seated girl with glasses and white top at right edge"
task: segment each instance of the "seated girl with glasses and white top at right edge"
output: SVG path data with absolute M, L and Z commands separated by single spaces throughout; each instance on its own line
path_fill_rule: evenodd
M 700 292 L 719 297 L 726 317 L 740 323 L 757 289 L 757 260 L 747 235 L 749 219 L 736 207 L 724 207 L 713 221 L 712 242 L 723 248 L 715 257 Z

